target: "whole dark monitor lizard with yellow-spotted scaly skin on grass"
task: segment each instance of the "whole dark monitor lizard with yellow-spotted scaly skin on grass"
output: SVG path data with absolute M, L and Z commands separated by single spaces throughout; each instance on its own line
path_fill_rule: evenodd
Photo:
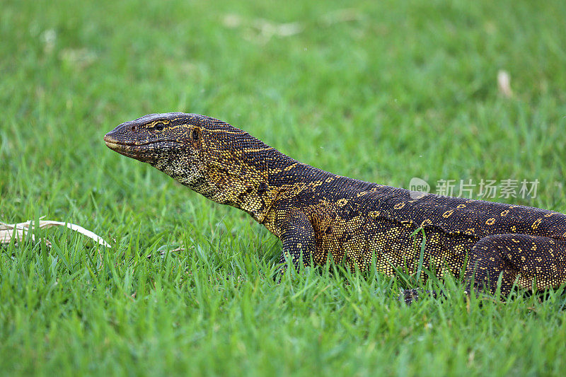
M 334 175 L 285 156 L 220 120 L 170 112 L 125 122 L 105 135 L 110 149 L 150 163 L 205 197 L 250 214 L 282 240 L 280 263 L 299 269 L 335 262 L 439 279 L 465 269 L 469 289 L 508 295 L 566 281 L 566 215 L 546 209 L 422 195 Z M 415 243 L 417 247 L 415 247 Z M 465 265 L 468 258 L 468 265 Z M 470 282 L 474 281 L 474 286 Z M 407 301 L 414 291 L 405 294 Z

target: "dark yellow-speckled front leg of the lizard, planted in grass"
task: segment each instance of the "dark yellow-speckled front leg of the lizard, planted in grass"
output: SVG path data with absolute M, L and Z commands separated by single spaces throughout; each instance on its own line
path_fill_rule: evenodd
M 315 236 L 311 221 L 303 212 L 288 214 L 281 226 L 283 251 L 279 258 L 279 273 L 275 279 L 281 279 L 291 261 L 298 271 L 311 265 L 311 258 L 316 250 Z

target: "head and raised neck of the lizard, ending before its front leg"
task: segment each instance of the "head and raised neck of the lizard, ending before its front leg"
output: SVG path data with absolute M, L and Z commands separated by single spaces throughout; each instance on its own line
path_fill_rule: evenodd
M 275 151 L 226 122 L 183 112 L 122 123 L 104 141 L 215 202 L 245 210 L 246 201 L 265 190 L 267 154 Z

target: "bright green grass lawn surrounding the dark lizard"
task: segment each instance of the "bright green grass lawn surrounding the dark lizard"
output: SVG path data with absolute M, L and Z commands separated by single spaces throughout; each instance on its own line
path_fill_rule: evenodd
M 402 279 L 374 273 L 275 284 L 274 236 L 102 141 L 148 112 L 197 112 L 388 185 L 538 179 L 505 201 L 566 212 L 565 1 L 148 3 L 0 7 L 0 221 L 112 243 L 52 229 L 52 248 L 0 249 L 2 374 L 565 370 L 566 296 L 480 306 L 456 279 L 406 307 Z M 272 35 L 281 23 L 298 33 Z

